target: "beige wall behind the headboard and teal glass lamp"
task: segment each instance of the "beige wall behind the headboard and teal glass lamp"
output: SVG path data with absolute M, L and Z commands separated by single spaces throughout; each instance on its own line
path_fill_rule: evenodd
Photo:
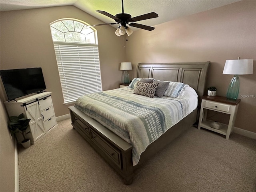
M 235 126 L 256 132 L 256 1 L 241 1 L 155 26 L 138 30 L 127 42 L 127 61 L 135 76 L 139 62 L 210 61 L 206 87 L 216 86 L 217 95 L 226 96 L 232 75 L 222 74 L 226 60 L 254 59 L 252 75 L 240 75 L 242 100 Z M 212 114 L 227 123 L 228 115 Z

